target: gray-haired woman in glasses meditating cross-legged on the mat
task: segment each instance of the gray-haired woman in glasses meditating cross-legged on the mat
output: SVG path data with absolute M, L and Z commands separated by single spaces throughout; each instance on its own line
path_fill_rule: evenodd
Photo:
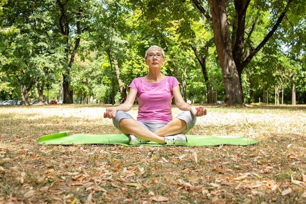
M 160 72 L 165 64 L 165 53 L 161 47 L 151 46 L 145 53 L 145 62 L 149 67 L 148 74 L 134 79 L 126 101 L 117 107 L 107 108 L 104 118 L 112 118 L 115 127 L 129 136 L 131 145 L 148 141 L 167 145 L 186 144 L 184 134 L 194 127 L 195 116 L 206 115 L 206 109 L 186 103 L 177 79 Z M 183 111 L 174 119 L 171 112 L 173 97 L 177 108 Z M 135 98 L 139 103 L 137 120 L 127 113 Z

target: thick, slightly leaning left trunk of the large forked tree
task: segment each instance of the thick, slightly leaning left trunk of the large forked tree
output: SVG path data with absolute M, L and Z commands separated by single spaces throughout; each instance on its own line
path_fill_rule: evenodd
M 242 86 L 232 53 L 225 0 L 210 0 L 210 5 L 215 45 L 225 86 L 225 103 L 230 106 L 242 105 Z

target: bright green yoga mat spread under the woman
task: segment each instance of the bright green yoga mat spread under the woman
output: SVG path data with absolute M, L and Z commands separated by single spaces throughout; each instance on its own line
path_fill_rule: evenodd
M 186 135 L 187 144 L 183 146 L 217 146 L 221 144 L 229 145 L 241 145 L 246 146 L 255 144 L 258 141 L 250 139 L 244 136 L 197 136 L 197 135 Z M 124 146 L 137 146 L 129 145 L 129 138 L 123 134 L 113 135 L 89 135 L 89 134 L 75 134 L 68 135 L 67 132 L 57 133 L 47 136 L 42 136 L 38 139 L 40 144 L 54 144 L 54 145 L 73 145 L 73 144 L 119 144 Z M 165 146 L 156 142 L 148 142 L 147 144 L 140 145 L 151 145 L 151 146 Z

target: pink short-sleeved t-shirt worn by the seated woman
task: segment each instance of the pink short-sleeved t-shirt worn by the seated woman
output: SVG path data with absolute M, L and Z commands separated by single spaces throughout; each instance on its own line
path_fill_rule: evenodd
M 172 120 L 171 104 L 173 88 L 180 83 L 173 76 L 166 76 L 161 82 L 149 83 L 142 77 L 131 82 L 129 88 L 137 91 L 139 121 L 168 123 Z

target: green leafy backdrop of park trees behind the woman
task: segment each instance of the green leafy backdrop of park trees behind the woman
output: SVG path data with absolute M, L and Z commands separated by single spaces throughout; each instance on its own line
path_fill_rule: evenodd
M 62 0 L 0 2 L 0 97 L 3 99 L 14 94 L 20 98 L 22 86 L 27 87 L 30 97 L 37 97 L 35 88 L 46 94 L 47 84 L 51 85 L 51 97 L 57 97 L 64 75 L 77 97 L 93 96 L 100 102 L 109 102 L 113 89 L 113 97 L 120 100 L 113 60 L 117 60 L 120 69 L 120 86 L 127 88 L 132 79 L 148 71 L 145 50 L 160 45 L 166 52 L 162 73 L 177 77 L 181 83 L 186 81 L 188 99 L 206 102 L 207 86 L 192 45 L 199 57 L 207 56 L 207 84 L 217 91 L 218 100 L 224 100 L 212 22 L 205 18 L 210 16 L 207 2 L 200 1 L 207 11 L 205 17 L 192 1 L 65 2 L 65 5 Z M 285 3 L 250 2 L 243 34 L 245 53 L 261 43 Z M 231 31 L 237 25 L 234 6 L 233 1 L 227 1 Z M 306 102 L 305 7 L 303 0 L 294 1 L 279 29 L 243 69 L 244 102 L 257 102 L 265 90 L 273 101 L 275 86 L 283 85 L 286 101 L 290 101 L 293 83 L 297 100 Z

